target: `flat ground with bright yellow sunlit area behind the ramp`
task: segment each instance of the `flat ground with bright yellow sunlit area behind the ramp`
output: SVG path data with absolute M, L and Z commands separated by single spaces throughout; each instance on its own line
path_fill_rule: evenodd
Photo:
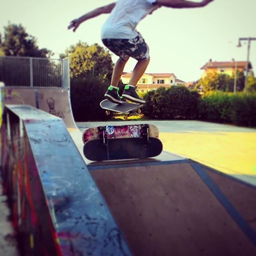
M 78 128 L 150 123 L 158 127 L 164 150 L 256 186 L 256 129 L 200 121 L 79 122 Z

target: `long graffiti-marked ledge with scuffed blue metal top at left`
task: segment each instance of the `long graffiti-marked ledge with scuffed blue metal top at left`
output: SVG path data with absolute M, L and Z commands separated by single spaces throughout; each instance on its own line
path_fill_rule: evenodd
M 24 255 L 130 255 L 64 122 L 7 106 L 2 176 Z

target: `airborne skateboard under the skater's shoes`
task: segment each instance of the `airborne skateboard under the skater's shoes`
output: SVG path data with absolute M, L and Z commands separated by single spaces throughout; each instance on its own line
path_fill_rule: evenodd
M 110 100 L 102 100 L 100 102 L 100 107 L 106 110 L 106 115 L 110 115 L 111 112 L 116 114 L 124 114 L 124 120 L 128 119 L 128 116 L 132 116 L 134 114 L 140 114 L 143 104 L 138 103 L 130 103 L 124 101 L 121 104 L 113 103 Z

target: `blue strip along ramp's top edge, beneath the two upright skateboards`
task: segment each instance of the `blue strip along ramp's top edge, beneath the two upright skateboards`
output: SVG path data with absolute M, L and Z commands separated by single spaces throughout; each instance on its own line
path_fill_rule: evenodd
M 128 168 L 128 167 L 142 167 L 142 166 L 159 166 L 159 165 L 170 165 L 170 164 L 183 164 L 183 163 L 190 163 L 190 160 L 188 159 L 182 159 L 182 160 L 170 160 L 170 161 L 156 161 L 156 162 L 143 162 L 143 163 L 122 163 L 122 164 L 110 164 L 107 165 L 108 162 L 106 162 L 106 165 L 87 165 L 87 168 L 89 171 L 94 170 L 108 170 L 112 168 Z

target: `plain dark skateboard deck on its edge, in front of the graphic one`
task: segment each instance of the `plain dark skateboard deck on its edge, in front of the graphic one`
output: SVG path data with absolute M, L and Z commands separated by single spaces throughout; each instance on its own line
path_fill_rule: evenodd
M 157 138 L 111 138 L 89 140 L 84 144 L 84 156 L 92 161 L 150 158 L 162 152 Z

